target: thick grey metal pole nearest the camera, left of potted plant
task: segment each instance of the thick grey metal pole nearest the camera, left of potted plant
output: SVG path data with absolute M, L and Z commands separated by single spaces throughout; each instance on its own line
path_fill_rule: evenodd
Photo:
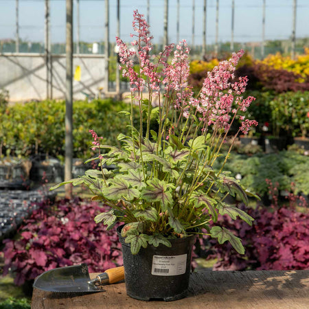
M 72 178 L 73 161 L 73 0 L 66 0 L 66 91 L 65 91 L 65 181 Z M 67 198 L 72 197 L 71 184 L 65 187 Z

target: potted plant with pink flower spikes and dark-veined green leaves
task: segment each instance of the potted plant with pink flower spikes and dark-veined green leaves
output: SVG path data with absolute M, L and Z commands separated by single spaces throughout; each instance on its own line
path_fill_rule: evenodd
M 120 133 L 122 147 L 117 148 L 102 144 L 102 139 L 90 130 L 93 150 L 98 150 L 95 160 L 102 168 L 88 170 L 84 176 L 65 183 L 87 185 L 93 200 L 102 200 L 111 207 L 96 216 L 95 222 L 103 221 L 108 229 L 116 222 L 124 222 L 122 236 L 130 243 L 133 254 L 148 244 L 170 247 L 169 239 L 192 233 L 218 238 L 220 244 L 228 240 L 236 251 L 244 253 L 240 238 L 231 231 L 220 226 L 209 228 L 218 214 L 240 217 L 249 225 L 253 220 L 226 203 L 229 195 L 237 194 L 246 204 L 248 196 L 254 195 L 223 172 L 232 145 L 220 170 L 213 168 L 236 119 L 242 124 L 231 144 L 240 131 L 247 133 L 258 124 L 243 116 L 254 100 L 242 98 L 247 77 L 236 80 L 233 75 L 244 52 L 240 50 L 207 73 L 200 93 L 194 96 L 187 82 L 187 43 L 181 41 L 176 49 L 171 44 L 160 54 L 152 54 L 149 26 L 138 11 L 133 16 L 134 48 L 117 38 L 120 69 L 130 80 L 131 112 L 126 112 L 130 135 Z M 139 115 L 133 115 L 135 104 Z M 238 115 L 240 112 L 242 115 Z M 133 122 L 136 117 L 137 127 Z M 159 124 L 156 131 L 150 128 L 154 118 Z M 117 168 L 104 168 L 111 164 Z

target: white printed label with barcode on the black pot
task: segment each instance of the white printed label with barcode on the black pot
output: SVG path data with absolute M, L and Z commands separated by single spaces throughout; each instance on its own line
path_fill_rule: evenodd
M 187 255 L 154 255 L 152 258 L 152 275 L 175 276 L 183 275 L 187 265 Z

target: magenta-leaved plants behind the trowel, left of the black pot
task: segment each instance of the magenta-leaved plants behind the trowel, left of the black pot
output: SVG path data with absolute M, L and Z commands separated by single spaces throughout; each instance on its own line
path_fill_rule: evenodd
M 75 199 L 59 201 L 55 209 L 45 206 L 25 220 L 18 239 L 3 241 L 3 275 L 14 273 L 21 285 L 56 267 L 87 263 L 90 272 L 101 272 L 122 265 L 115 231 L 93 221 L 102 211 L 98 203 Z

